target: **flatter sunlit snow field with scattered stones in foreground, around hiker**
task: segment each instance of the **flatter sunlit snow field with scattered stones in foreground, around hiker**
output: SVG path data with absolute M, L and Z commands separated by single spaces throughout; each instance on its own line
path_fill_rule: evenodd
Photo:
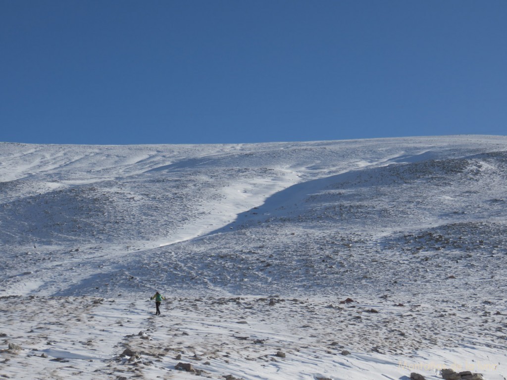
M 424 308 L 378 301 L 176 297 L 163 303 L 160 317 L 153 302 L 122 297 L 10 297 L 3 306 L 0 334 L 21 350 L 2 353 L 2 374 L 19 379 L 195 378 L 176 370 L 179 362 L 200 376 L 245 379 L 395 379 L 416 369 L 440 378 L 440 369 L 460 366 L 500 379 L 506 370 L 504 351 L 488 338 L 477 341 L 447 322 L 462 341 L 455 345 L 442 334 L 446 323 L 425 325 L 431 318 Z M 422 325 L 389 323 L 409 311 Z M 32 318 L 19 319 L 20 312 Z M 434 346 L 438 339 L 448 339 L 447 348 Z M 126 349 L 135 356 L 122 356 Z

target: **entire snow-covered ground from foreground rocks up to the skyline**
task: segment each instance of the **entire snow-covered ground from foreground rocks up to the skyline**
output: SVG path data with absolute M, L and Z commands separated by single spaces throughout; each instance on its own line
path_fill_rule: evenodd
M 504 136 L 0 143 L 0 376 L 505 380 L 506 179 Z

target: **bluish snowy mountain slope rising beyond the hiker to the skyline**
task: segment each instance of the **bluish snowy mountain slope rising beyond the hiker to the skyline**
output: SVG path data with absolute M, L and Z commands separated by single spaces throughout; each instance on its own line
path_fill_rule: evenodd
M 95 287 L 106 277 L 111 287 L 120 282 L 112 294 L 127 284 L 158 283 L 257 293 L 276 288 L 279 279 L 291 291 L 317 285 L 334 291 L 363 287 L 361 277 L 376 286 L 385 271 L 396 277 L 408 264 L 412 274 L 428 269 L 421 257 L 435 252 L 487 251 L 489 242 L 501 251 L 506 144 L 497 136 L 4 143 L 0 249 L 9 259 L 0 294 L 24 293 L 28 275 L 19 275 L 25 272 L 42 294 L 103 294 L 109 288 Z M 456 239 L 456 229 L 466 230 L 467 243 L 445 244 Z M 444 240 L 396 243 L 430 233 Z M 479 240 L 485 243 L 477 246 Z M 389 264 L 392 252 L 398 259 Z M 362 267 L 361 255 L 377 264 Z M 465 261 L 442 276 L 461 271 Z M 57 281 L 48 275 L 54 268 Z

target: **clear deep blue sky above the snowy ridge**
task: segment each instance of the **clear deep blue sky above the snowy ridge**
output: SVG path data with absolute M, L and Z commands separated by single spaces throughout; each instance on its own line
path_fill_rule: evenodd
M 506 132 L 505 0 L 0 0 L 0 141 Z

